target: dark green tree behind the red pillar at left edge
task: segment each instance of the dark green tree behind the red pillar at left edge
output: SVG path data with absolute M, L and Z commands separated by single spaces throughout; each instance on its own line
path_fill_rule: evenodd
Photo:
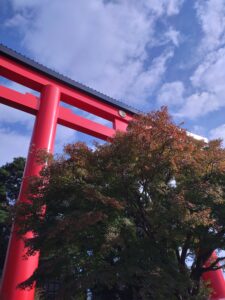
M 12 223 L 12 206 L 18 197 L 25 159 L 17 157 L 0 167 L 0 270 L 3 269 Z

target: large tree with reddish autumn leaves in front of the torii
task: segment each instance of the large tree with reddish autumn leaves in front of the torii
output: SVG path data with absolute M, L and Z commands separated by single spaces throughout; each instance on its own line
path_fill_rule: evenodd
M 225 250 L 224 168 L 221 141 L 193 139 L 166 108 L 95 150 L 67 145 L 18 207 L 19 233 L 35 233 L 27 255 L 42 254 L 21 287 L 57 279 L 59 299 L 88 289 L 94 299 L 207 299 L 201 276 L 224 265 L 206 267 Z

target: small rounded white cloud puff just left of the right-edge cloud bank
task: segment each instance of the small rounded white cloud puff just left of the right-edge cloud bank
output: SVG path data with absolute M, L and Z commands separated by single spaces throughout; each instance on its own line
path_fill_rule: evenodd
M 160 105 L 177 106 L 184 101 L 184 84 L 181 81 L 165 83 L 158 92 Z

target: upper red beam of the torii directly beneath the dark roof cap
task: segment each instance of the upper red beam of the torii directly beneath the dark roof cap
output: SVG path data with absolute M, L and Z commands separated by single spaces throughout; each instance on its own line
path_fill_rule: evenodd
M 42 88 L 45 85 L 56 85 L 61 91 L 61 101 L 64 101 L 65 103 L 112 122 L 115 118 L 119 118 L 123 122 L 127 123 L 132 120 L 132 116 L 129 114 L 127 114 L 124 118 L 121 118 L 119 115 L 119 108 L 103 103 L 94 96 L 69 87 L 58 80 L 49 78 L 41 72 L 26 67 L 23 64 L 10 60 L 2 55 L 0 55 L 0 75 L 39 92 L 42 91 Z

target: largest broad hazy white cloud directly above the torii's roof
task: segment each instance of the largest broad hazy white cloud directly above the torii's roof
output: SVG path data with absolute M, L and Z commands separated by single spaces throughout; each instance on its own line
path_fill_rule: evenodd
M 12 2 L 15 12 L 27 18 L 20 28 L 23 45 L 36 60 L 115 98 L 143 105 L 146 91 L 153 90 L 149 84 L 155 61 L 147 70 L 145 63 L 146 49 L 158 39 L 155 23 L 178 14 L 183 0 Z M 168 42 L 178 45 L 176 29 L 167 34 Z M 162 71 L 156 74 L 153 84 L 162 76 Z

